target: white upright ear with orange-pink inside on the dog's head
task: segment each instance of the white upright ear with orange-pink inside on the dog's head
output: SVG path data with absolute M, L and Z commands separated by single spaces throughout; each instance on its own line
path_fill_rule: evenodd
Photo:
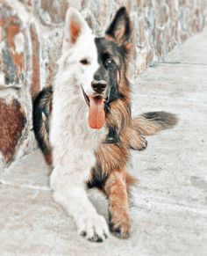
M 63 50 L 73 46 L 83 33 L 91 32 L 82 14 L 70 7 L 66 13 L 64 28 Z

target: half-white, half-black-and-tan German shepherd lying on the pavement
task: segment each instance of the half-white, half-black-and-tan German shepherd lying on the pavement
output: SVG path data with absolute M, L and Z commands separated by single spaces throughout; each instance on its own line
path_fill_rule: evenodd
M 90 241 L 103 241 L 109 230 L 87 188 L 98 187 L 106 195 L 110 230 L 127 238 L 132 229 L 128 192 L 135 182 L 126 170 L 130 148 L 145 149 L 145 135 L 176 123 L 175 115 L 165 112 L 132 119 L 131 30 L 124 7 L 104 37 L 96 37 L 82 15 L 69 8 L 54 86 L 40 91 L 34 101 L 34 132 L 54 168 L 54 200 Z

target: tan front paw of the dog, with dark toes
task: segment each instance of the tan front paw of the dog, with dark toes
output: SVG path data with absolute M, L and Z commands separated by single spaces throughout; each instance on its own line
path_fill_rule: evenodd
M 110 214 L 110 230 L 118 238 L 129 238 L 132 230 L 130 216 L 120 212 Z

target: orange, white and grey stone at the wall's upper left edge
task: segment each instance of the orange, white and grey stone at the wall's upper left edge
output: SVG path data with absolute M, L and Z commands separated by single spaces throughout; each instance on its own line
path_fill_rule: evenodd
M 21 87 L 25 40 L 18 15 L 6 4 L 1 7 L 1 35 L 1 79 L 5 86 Z

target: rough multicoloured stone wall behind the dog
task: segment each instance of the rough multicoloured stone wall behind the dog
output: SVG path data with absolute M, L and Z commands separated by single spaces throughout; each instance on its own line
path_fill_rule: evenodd
M 37 146 L 32 99 L 53 82 L 67 8 L 103 33 L 122 5 L 134 27 L 136 74 L 206 24 L 205 0 L 0 0 L 0 169 Z

